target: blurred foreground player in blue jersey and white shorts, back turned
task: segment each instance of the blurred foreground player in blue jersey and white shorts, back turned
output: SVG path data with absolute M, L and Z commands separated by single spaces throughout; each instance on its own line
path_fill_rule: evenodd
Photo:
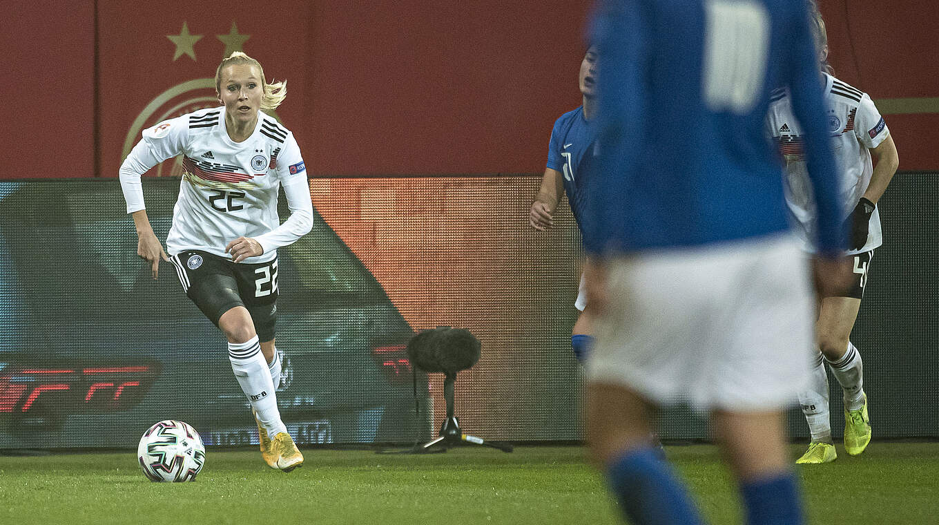
M 748 523 L 802 523 L 783 409 L 808 376 L 813 297 L 762 127 L 786 86 L 817 197 L 817 285 L 839 280 L 835 164 L 808 8 L 793 0 L 608 0 L 593 26 L 598 151 L 584 274 L 597 306 L 588 438 L 634 523 L 700 523 L 650 419 L 710 412 Z

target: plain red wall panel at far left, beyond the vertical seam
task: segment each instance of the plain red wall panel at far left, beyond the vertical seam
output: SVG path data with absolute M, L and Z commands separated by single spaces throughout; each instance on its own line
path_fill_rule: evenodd
M 0 178 L 93 177 L 92 4 L 14 0 L 3 13 L 0 144 L 8 162 Z

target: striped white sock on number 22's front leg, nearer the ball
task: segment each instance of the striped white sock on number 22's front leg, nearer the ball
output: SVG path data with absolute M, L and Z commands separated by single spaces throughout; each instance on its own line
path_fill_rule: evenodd
M 264 425 L 268 435 L 272 438 L 279 432 L 286 432 L 277 409 L 277 395 L 274 394 L 268 363 L 261 353 L 257 336 L 247 343 L 228 343 L 228 360 L 232 363 L 232 371 L 241 385 L 241 391 L 248 396 L 257 419 Z

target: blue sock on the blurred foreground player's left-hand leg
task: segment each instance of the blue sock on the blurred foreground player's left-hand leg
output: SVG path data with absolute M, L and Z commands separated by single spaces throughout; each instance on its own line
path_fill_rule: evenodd
M 687 489 L 654 448 L 624 453 L 607 468 L 610 486 L 635 525 L 700 525 Z

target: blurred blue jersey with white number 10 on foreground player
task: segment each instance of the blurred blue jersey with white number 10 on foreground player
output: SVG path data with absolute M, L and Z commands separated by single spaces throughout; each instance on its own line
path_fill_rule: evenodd
M 770 91 L 789 87 L 806 135 L 819 246 L 844 244 L 822 74 L 801 0 L 610 0 L 599 49 L 589 252 L 747 239 L 789 228 Z M 592 122 L 592 123 L 593 123 Z

